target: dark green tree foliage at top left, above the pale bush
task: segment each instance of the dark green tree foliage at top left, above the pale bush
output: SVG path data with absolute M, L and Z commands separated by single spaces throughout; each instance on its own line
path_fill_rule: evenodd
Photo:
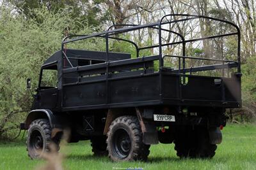
M 38 17 L 36 9 L 45 8 L 45 10 L 51 11 L 53 13 L 60 13 L 66 11 L 69 13 L 70 18 L 77 20 L 79 18 L 79 26 L 91 25 L 99 26 L 103 24 L 107 18 L 107 14 L 100 15 L 101 10 L 99 4 L 102 0 L 89 1 L 89 0 L 10 0 L 17 11 L 22 13 L 26 18 L 33 18 L 36 22 L 41 23 L 42 18 Z M 63 13 L 64 14 L 64 13 Z

